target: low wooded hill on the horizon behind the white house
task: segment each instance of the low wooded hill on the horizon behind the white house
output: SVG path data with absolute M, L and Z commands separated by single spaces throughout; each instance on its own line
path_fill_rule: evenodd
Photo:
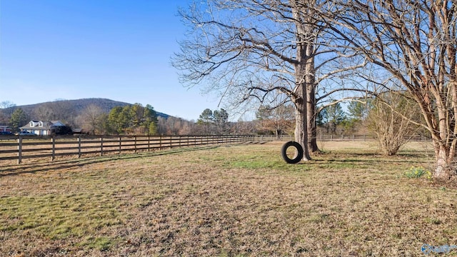
M 39 104 L 29 104 L 23 106 L 13 106 L 7 109 L 2 109 L 6 115 L 11 115 L 15 109 L 21 108 L 29 119 L 39 119 L 39 116 L 47 116 L 50 114 L 50 120 L 61 120 L 70 122 L 74 117 L 79 116 L 88 106 L 98 106 L 102 111 L 109 113 L 115 106 L 129 106 L 133 104 L 114 101 L 111 99 L 76 99 L 76 100 L 58 100 L 49 101 Z M 151 106 L 154 107 L 153 104 Z M 168 118 L 168 114 L 156 111 L 158 117 Z

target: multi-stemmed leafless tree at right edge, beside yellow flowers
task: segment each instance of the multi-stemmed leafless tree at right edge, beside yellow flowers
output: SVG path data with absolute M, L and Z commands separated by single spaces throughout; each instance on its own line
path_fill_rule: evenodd
M 335 16 L 321 14 L 332 20 L 328 27 L 347 42 L 347 51 L 401 81 L 431 133 L 434 176 L 456 175 L 457 2 L 351 0 L 333 6 Z

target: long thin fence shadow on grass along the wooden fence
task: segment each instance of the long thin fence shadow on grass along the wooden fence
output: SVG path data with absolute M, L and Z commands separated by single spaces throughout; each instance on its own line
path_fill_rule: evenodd
M 10 166 L 2 166 L 0 168 L 0 178 L 4 176 L 16 176 L 24 173 L 37 173 L 41 171 L 51 171 L 51 170 L 62 170 L 69 168 L 79 168 L 85 165 L 94 164 L 94 163 L 104 163 L 108 161 L 117 161 L 117 160 L 129 160 L 137 158 L 146 158 L 152 156 L 163 156 L 174 153 L 184 153 L 189 151 L 199 151 L 204 149 L 217 148 L 220 146 L 206 146 L 206 147 L 196 147 L 196 148 L 175 148 L 164 151 L 151 151 L 151 152 L 141 152 L 141 153 L 125 153 L 122 155 L 108 155 L 108 156 L 96 156 L 96 157 L 85 157 L 77 158 L 71 160 L 59 160 L 59 161 L 49 161 L 49 162 L 40 162 L 40 163 L 26 163 L 26 164 L 16 164 Z

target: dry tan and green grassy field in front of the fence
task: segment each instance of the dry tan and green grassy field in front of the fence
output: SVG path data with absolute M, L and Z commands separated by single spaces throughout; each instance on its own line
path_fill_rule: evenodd
M 457 244 L 455 183 L 405 175 L 431 165 L 426 144 L 385 157 L 327 142 L 295 165 L 281 144 L 2 165 L 0 255 L 423 256 L 424 243 Z

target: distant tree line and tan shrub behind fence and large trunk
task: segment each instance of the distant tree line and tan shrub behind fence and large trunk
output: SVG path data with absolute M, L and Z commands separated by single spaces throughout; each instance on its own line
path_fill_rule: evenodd
M 341 102 L 319 106 L 316 109 L 316 124 L 319 134 L 376 134 L 381 150 L 387 155 L 396 151 L 408 141 L 408 136 L 417 133 L 426 135 L 418 124 L 421 116 L 411 96 L 406 93 L 388 92 L 375 98 L 349 102 L 343 108 Z M 49 106 L 27 114 L 23 109 L 16 108 L 9 101 L 0 103 L 0 124 L 6 124 L 13 131 L 35 115 L 42 121 L 58 119 L 57 112 Z M 56 105 L 55 107 L 59 107 Z M 64 107 L 62 107 L 65 109 Z M 345 111 L 346 109 L 346 111 Z M 14 110 L 14 111 L 13 111 Z M 46 111 L 47 110 L 47 111 Z M 71 119 L 69 127 L 81 128 L 85 133 L 93 135 L 221 135 L 221 134 L 270 134 L 293 135 L 296 110 L 292 105 L 263 105 L 256 111 L 253 121 L 229 121 L 229 113 L 225 109 L 204 109 L 197 121 L 187 121 L 179 117 L 157 116 L 154 107 L 141 104 L 114 106 L 108 113 L 96 104 L 90 104 Z M 42 114 L 42 115 L 40 115 Z M 46 115 L 44 115 L 46 114 Z M 52 114 L 52 115 L 51 115 Z M 63 115 L 63 114 L 62 114 Z M 76 125 L 75 125 L 76 124 Z

